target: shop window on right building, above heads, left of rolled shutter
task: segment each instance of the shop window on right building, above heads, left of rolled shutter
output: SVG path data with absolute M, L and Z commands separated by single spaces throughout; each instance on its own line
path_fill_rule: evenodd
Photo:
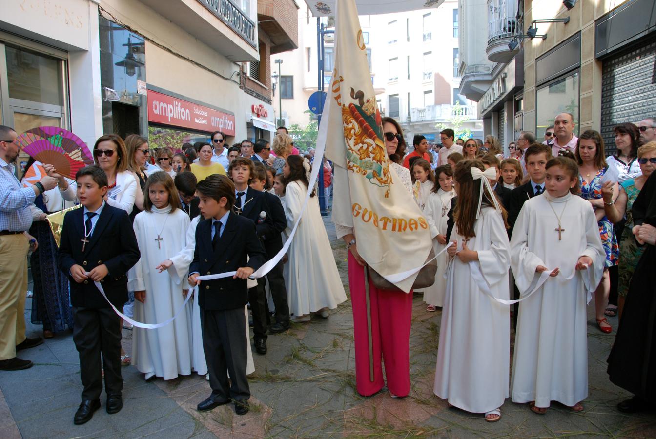
M 537 89 L 535 107 L 537 138 L 544 137 L 544 130 L 560 113 L 574 115 L 575 129 L 579 126 L 579 71 L 569 73 Z

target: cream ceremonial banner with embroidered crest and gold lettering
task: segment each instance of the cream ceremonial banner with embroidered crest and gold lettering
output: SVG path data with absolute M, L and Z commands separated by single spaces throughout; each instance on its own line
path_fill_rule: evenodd
M 360 256 L 409 292 L 432 248 L 428 222 L 390 166 L 354 0 L 338 0 L 336 12 L 335 70 L 318 138 L 335 164 L 333 221 L 354 227 Z

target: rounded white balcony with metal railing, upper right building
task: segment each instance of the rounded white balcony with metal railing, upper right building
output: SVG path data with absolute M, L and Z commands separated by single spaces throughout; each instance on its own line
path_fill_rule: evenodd
M 508 43 L 517 33 L 517 1 L 487 0 L 487 59 L 508 62 L 514 52 Z

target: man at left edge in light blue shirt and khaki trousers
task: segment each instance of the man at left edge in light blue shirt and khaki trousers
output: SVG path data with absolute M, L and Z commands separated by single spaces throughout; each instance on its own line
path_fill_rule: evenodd
M 13 128 L 0 125 L 0 370 L 31 368 L 32 362 L 16 357 L 16 351 L 43 343 L 41 337 L 25 336 L 27 256 L 30 246 L 37 247 L 26 231 L 32 224 L 34 199 L 57 185 L 57 179 L 50 176 L 30 187 L 20 184 L 14 174 L 17 136 Z

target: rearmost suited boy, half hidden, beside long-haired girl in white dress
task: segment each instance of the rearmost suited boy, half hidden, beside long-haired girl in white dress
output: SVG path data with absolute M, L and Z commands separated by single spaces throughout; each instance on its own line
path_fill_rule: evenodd
M 268 258 L 273 259 L 281 248 L 283 248 L 281 233 L 287 228 L 287 218 L 285 217 L 285 210 L 280 199 L 277 195 L 265 191 L 265 185 L 266 169 L 264 165 L 256 163 L 253 178 L 251 179 L 251 189 L 264 194 L 271 211 L 274 229 L 277 233 L 266 236 L 264 250 L 266 250 Z M 285 287 L 285 278 L 283 277 L 282 260 L 267 273 L 266 279 L 269 282 L 269 290 L 272 299 L 274 299 L 274 305 L 276 305 L 276 323 L 272 324 L 270 331 L 274 334 L 279 334 L 289 329 L 289 305 L 287 304 L 287 288 Z

